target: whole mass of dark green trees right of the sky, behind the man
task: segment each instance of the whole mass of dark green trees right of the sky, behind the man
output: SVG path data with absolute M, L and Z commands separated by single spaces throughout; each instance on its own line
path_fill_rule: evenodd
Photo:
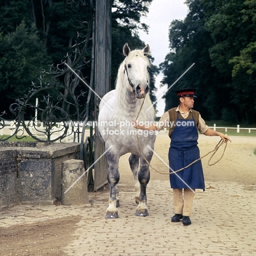
M 256 0 L 187 0 L 184 20 L 171 22 L 170 53 L 160 68 L 171 86 L 166 110 L 177 105 L 174 90 L 196 88 L 195 108 L 206 120 L 256 123 Z M 254 102 L 254 100 L 253 100 Z

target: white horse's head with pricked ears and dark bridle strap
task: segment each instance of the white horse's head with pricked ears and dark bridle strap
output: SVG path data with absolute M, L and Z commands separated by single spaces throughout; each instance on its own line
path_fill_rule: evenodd
M 124 60 L 124 73 L 127 79 L 127 89 L 135 93 L 137 98 L 146 97 L 149 91 L 149 73 L 150 63 L 148 60 L 149 45 L 143 50 L 133 50 L 126 43 L 123 53 L 126 56 Z

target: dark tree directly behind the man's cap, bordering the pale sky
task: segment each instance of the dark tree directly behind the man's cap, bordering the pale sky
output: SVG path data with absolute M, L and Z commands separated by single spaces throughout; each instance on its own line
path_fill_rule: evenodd
M 196 108 L 204 117 L 215 119 L 218 104 L 214 97 L 217 87 L 216 68 L 211 67 L 208 49 L 213 45 L 210 33 L 205 30 L 205 13 L 201 1 L 188 1 L 189 14 L 184 21 L 174 20 L 170 26 L 171 53 L 161 63 L 164 72 L 162 83 L 170 87 L 193 63 L 195 65 L 165 95 L 166 110 L 177 106 L 175 90 L 196 88 Z M 204 102 L 204 103 L 203 103 Z M 213 108 L 214 107 L 214 108 Z

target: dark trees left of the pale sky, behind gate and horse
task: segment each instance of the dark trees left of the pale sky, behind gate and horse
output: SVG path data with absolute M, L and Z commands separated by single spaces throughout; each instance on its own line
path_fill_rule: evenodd
M 17 98 L 24 97 L 32 81 L 39 83 L 40 71 L 74 54 L 72 47 L 90 33 L 91 11 L 94 11 L 91 2 L 95 7 L 95 1 L 89 0 L 0 1 L 0 112 L 7 110 Z M 112 1 L 112 89 L 118 67 L 124 60 L 123 45 L 129 43 L 131 49 L 145 46 L 137 32 L 148 29 L 140 18 L 147 14 L 151 2 Z M 89 39 L 80 70 L 85 79 L 90 79 L 91 47 Z M 151 92 L 155 90 L 157 73 L 158 68 L 152 66 Z M 66 82 L 60 79 L 59 83 Z

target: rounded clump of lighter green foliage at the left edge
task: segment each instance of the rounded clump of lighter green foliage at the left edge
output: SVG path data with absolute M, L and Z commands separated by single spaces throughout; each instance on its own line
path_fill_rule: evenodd
M 15 32 L 1 33 L 0 56 L 1 98 L 11 101 L 27 94 L 31 80 L 51 62 L 36 28 L 27 27 L 25 22 Z

